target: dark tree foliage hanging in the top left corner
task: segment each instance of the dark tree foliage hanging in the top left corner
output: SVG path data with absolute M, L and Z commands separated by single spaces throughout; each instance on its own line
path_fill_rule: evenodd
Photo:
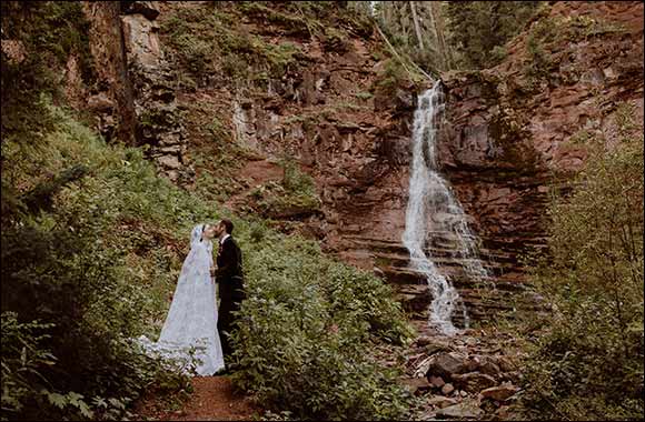
M 2 148 L 6 141 L 23 153 L 44 140 L 54 123 L 41 92 L 60 94 L 60 70 L 70 54 L 79 59 L 82 78 L 91 82 L 92 69 L 88 42 L 88 22 L 80 2 L 3 1 L 2 39 L 22 46 L 23 60 L 4 53 L 2 60 Z M 4 162 L 4 154 L 2 157 Z M 2 184 L 2 214 L 18 212 L 20 192 Z

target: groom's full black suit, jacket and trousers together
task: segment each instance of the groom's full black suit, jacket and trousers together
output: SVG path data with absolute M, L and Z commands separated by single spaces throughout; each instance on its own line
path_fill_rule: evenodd
M 229 235 L 219 245 L 215 273 L 219 284 L 219 299 L 221 300 L 217 328 L 224 354 L 232 352 L 227 335 L 227 333 L 230 333 L 236 318 L 231 312 L 239 310 L 241 301 L 246 298 L 241 264 L 241 251 L 232 237 Z

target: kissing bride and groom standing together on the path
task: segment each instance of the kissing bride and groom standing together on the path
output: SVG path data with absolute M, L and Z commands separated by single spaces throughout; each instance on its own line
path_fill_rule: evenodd
M 202 376 L 225 370 L 224 358 L 232 353 L 229 335 L 236 322 L 234 312 L 246 298 L 242 255 L 232 229 L 227 219 L 192 229 L 190 252 L 181 267 L 159 341 L 139 338 L 146 351 L 179 362 L 185 371 L 192 369 Z M 214 240 L 218 245 L 215 260 Z

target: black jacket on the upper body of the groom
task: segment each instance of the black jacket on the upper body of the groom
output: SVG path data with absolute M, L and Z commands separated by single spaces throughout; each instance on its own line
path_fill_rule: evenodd
M 222 301 L 239 302 L 245 299 L 242 279 L 241 250 L 232 237 L 228 237 L 219 245 L 217 252 L 216 280 L 219 284 L 219 297 Z

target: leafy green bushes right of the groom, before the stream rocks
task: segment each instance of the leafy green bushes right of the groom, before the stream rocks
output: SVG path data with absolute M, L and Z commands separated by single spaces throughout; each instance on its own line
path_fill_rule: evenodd
M 262 237 L 246 254 L 247 289 L 234 340 L 238 385 L 274 411 L 314 420 L 405 418 L 410 399 L 396 371 L 371 358 L 371 342 L 409 335 L 391 290 L 325 259 L 318 247 Z M 271 274 L 271 277 L 267 277 Z

